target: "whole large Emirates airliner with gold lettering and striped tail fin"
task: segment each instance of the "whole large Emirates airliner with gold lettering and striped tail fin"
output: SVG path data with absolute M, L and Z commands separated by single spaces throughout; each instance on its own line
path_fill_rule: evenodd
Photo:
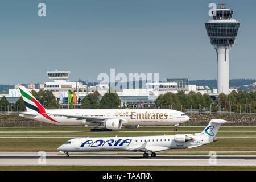
M 137 129 L 139 125 L 175 125 L 184 123 L 189 117 L 172 109 L 44 109 L 24 86 L 19 87 L 25 112 L 21 117 L 58 125 L 93 125 L 91 131 L 119 130 L 122 126 Z M 105 128 L 98 129 L 103 125 Z

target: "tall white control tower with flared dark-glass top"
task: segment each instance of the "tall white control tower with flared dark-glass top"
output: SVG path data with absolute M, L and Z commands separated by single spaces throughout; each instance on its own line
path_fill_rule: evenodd
M 217 53 L 218 93 L 229 94 L 229 50 L 234 45 L 240 22 L 233 19 L 233 10 L 224 5 L 212 11 L 213 20 L 205 23 L 210 43 Z

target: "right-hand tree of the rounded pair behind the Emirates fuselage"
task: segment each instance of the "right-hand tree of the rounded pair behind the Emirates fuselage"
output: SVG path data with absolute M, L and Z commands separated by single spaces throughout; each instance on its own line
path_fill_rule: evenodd
M 121 105 L 121 100 L 117 93 L 109 91 L 101 98 L 100 105 L 102 109 L 117 109 Z

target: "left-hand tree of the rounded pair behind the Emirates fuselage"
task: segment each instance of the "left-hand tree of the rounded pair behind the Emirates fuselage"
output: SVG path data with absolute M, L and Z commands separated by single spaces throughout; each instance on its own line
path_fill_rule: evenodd
M 99 109 L 100 102 L 97 93 L 90 93 L 84 97 L 81 104 L 81 109 Z

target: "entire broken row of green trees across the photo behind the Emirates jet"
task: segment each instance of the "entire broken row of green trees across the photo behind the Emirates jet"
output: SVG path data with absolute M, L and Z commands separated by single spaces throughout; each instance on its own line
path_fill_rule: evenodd
M 121 100 L 117 93 L 105 93 L 101 100 L 98 96 L 100 94 L 96 91 L 88 94 L 82 100 L 81 109 L 117 109 L 121 105 Z M 46 108 L 46 109 L 60 109 L 60 104 L 56 100 L 53 93 L 49 90 L 35 92 L 31 91 L 32 95 Z M 232 91 L 229 95 L 220 93 L 216 99 L 212 99 L 208 94 L 201 94 L 200 92 L 189 92 L 185 94 L 184 91 L 179 93 L 165 93 L 161 94 L 156 100 L 155 105 L 162 109 L 174 109 L 185 111 L 187 109 L 202 109 L 216 111 L 233 111 L 239 113 L 255 113 L 256 112 L 256 92 L 246 91 Z M 11 107 L 6 97 L 3 96 L 0 100 L 1 111 L 11 111 Z M 70 107 L 72 108 L 72 107 Z M 22 97 L 16 101 L 13 106 L 13 111 L 24 111 Z

